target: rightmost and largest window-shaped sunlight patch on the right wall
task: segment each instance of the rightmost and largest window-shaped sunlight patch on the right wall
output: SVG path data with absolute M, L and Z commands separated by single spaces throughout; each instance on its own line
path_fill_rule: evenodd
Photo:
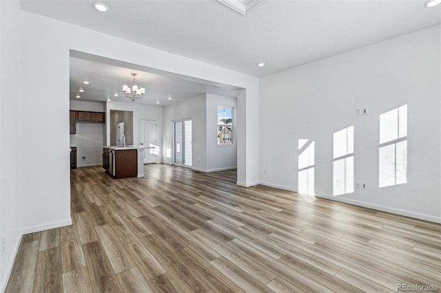
M 380 114 L 378 186 L 407 183 L 407 105 Z

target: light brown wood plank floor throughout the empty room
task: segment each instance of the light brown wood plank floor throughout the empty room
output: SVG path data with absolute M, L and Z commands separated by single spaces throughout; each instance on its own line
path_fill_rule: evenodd
M 24 235 L 6 292 L 393 292 L 441 287 L 441 225 L 146 165 L 71 173 L 72 226 Z

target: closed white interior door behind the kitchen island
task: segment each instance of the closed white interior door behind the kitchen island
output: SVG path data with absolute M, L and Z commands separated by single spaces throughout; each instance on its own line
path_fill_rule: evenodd
M 159 147 L 156 144 L 156 120 L 141 119 L 139 127 L 139 144 L 153 146 L 144 150 L 144 164 L 156 163 Z

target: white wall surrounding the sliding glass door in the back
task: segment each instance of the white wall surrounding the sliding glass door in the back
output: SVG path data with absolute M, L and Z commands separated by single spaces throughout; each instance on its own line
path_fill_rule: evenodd
M 173 163 L 173 128 L 172 122 L 187 118 L 192 119 L 192 149 L 194 169 L 207 169 L 207 115 L 205 95 L 189 98 L 183 102 L 163 107 L 163 162 Z M 170 149 L 171 157 L 167 157 Z

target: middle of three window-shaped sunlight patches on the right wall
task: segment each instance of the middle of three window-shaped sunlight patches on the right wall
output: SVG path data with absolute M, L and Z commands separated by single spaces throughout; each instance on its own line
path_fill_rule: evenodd
M 353 193 L 353 126 L 334 132 L 333 195 Z

